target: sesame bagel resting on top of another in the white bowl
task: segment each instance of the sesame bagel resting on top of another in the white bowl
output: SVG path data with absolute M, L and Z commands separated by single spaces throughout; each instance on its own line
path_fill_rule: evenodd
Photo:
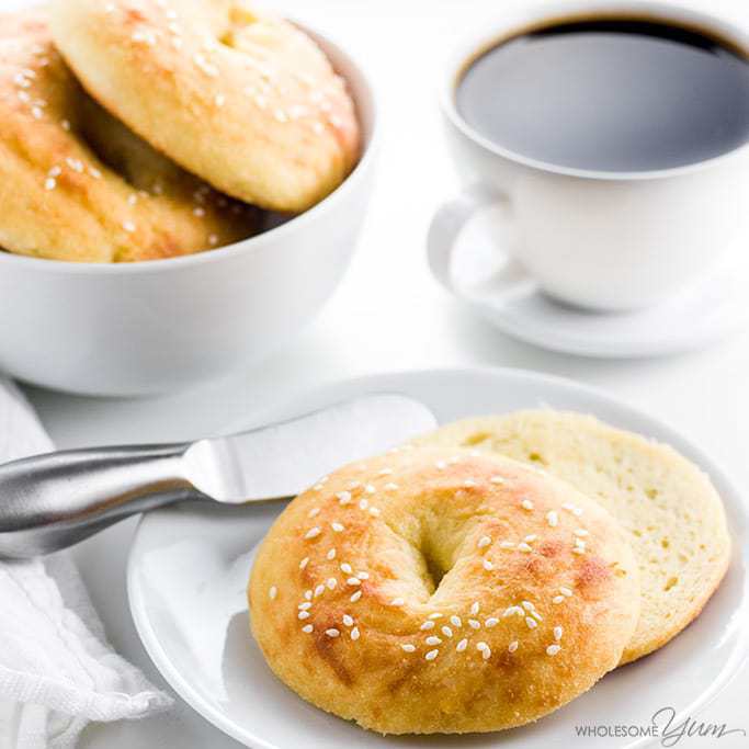
M 53 32 L 110 112 L 239 200 L 305 211 L 358 159 L 354 106 L 328 58 L 241 0 L 57 0 Z

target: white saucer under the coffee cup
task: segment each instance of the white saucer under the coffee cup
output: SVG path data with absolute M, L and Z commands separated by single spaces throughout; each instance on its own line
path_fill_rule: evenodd
M 657 307 L 594 313 L 553 300 L 526 275 L 502 277 L 493 241 L 501 227 L 487 214 L 476 217 L 458 240 L 453 277 L 439 281 L 508 336 L 582 356 L 657 356 L 703 348 L 749 321 L 744 247 L 731 249 L 711 275 Z

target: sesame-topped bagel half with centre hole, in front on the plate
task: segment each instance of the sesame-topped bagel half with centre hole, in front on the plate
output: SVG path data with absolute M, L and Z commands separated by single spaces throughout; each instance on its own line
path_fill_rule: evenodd
M 400 451 L 322 479 L 250 576 L 275 674 L 383 734 L 535 720 L 614 668 L 637 622 L 637 567 L 609 513 L 509 458 L 453 455 Z

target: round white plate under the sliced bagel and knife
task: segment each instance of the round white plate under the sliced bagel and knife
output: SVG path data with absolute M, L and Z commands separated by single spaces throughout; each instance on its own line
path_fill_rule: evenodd
M 647 727 L 662 707 L 694 716 L 745 661 L 747 511 L 719 468 L 670 429 L 597 390 L 515 370 L 363 377 L 315 390 L 273 409 L 273 416 L 288 417 L 366 393 L 402 393 L 418 398 L 440 422 L 546 405 L 594 413 L 617 427 L 669 442 L 711 475 L 725 501 L 735 541 L 730 570 L 702 615 L 668 646 L 613 671 L 590 692 L 532 726 L 461 737 L 383 737 L 303 702 L 271 673 L 249 633 L 245 600 L 248 551 L 263 537 L 280 508 L 194 503 L 157 510 L 144 517 L 129 557 L 133 617 L 163 677 L 220 729 L 262 749 L 577 746 L 576 726 Z M 230 427 L 259 421 L 254 415 Z M 585 739 L 585 746 L 632 749 L 650 740 L 591 737 Z

